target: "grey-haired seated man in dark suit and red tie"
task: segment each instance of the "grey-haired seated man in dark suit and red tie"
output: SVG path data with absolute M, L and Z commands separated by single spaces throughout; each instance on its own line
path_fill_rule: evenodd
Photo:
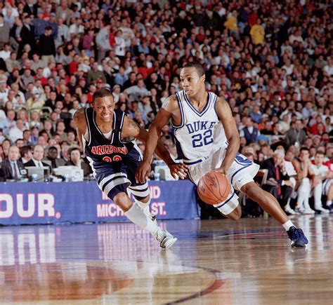
M 285 151 L 276 149 L 273 158 L 263 161 L 261 168 L 268 170 L 267 182 L 263 185 L 263 189 L 277 198 L 280 205 L 285 207 L 292 197 L 294 189 L 294 182 L 285 168 Z

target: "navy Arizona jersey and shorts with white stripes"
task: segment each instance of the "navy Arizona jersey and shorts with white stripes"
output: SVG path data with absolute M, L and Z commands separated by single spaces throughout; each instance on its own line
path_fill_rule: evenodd
M 148 184 L 137 184 L 135 180 L 136 169 L 142 161 L 141 151 L 135 140 L 126 142 L 122 139 L 126 114 L 115 109 L 110 140 L 98 128 L 93 108 L 86 108 L 85 115 L 89 138 L 84 139 L 84 151 L 100 189 L 110 194 L 112 189 L 125 184 L 134 191 L 139 189 L 139 193 L 145 191 L 146 194 Z M 140 196 L 139 193 L 136 195 Z

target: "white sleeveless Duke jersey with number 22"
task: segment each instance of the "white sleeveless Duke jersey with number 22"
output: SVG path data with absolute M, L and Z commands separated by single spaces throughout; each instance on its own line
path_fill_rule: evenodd
M 208 93 L 201 112 L 190 103 L 184 90 L 176 93 L 176 98 L 181 111 L 181 125 L 173 124 L 178 158 L 183 158 L 185 164 L 195 164 L 227 147 L 226 134 L 215 110 L 216 94 Z

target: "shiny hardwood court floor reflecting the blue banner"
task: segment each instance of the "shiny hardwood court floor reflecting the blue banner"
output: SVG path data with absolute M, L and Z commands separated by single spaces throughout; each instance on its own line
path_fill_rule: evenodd
M 332 304 L 332 215 L 301 216 L 307 250 L 269 218 L 0 228 L 3 304 Z

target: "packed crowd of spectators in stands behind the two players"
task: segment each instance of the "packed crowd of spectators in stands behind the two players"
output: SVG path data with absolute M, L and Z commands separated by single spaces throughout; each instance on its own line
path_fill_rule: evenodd
M 1 1 L 0 178 L 20 180 L 25 164 L 91 175 L 75 111 L 106 87 L 149 128 L 198 61 L 230 104 L 240 152 L 267 170 L 263 187 L 291 214 L 329 212 L 332 16 L 329 0 Z M 171 126 L 163 133 L 176 158 Z

